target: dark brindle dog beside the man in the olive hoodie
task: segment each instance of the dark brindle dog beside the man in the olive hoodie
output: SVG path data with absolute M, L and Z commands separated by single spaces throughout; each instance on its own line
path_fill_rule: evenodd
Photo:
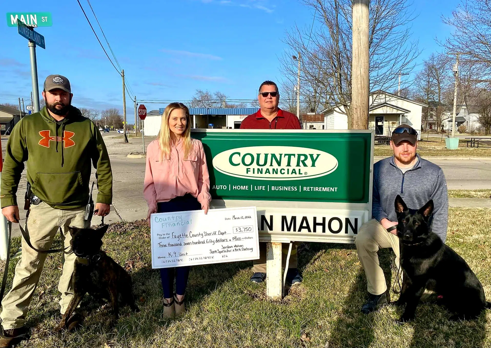
M 128 304 L 138 312 L 132 292 L 130 275 L 104 251 L 101 250 L 102 237 L 109 225 L 98 229 L 69 227 L 72 240 L 70 245 L 77 255 L 72 276 L 74 295 L 56 331 L 66 328 L 75 308 L 88 293 L 96 298 L 110 299 L 112 305 L 112 323 L 118 319 L 120 305 Z

